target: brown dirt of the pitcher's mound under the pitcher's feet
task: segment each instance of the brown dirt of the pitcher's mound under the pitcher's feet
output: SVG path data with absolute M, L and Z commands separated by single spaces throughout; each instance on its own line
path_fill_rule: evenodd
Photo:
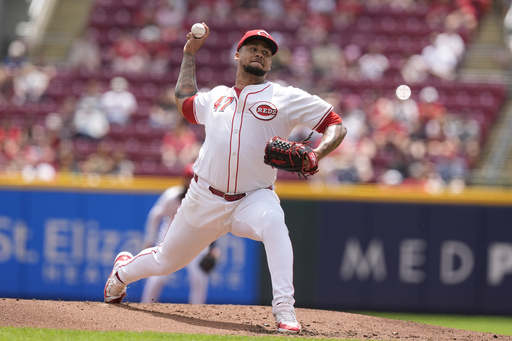
M 352 340 L 510 340 L 512 337 L 297 308 L 297 338 Z M 268 306 L 190 305 L 0 299 L 0 326 L 101 331 L 280 336 Z

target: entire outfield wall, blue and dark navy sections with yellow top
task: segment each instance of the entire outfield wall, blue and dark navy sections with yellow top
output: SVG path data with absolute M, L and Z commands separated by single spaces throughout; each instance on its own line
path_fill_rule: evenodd
M 137 253 L 146 214 L 175 179 L 0 179 L 0 297 L 101 300 L 112 260 Z M 279 182 L 297 306 L 512 314 L 512 192 Z M 228 235 L 209 303 L 262 304 L 259 243 Z M 186 271 L 163 300 L 186 302 Z M 8 279 L 8 280 L 5 280 Z M 138 301 L 143 281 L 130 285 Z

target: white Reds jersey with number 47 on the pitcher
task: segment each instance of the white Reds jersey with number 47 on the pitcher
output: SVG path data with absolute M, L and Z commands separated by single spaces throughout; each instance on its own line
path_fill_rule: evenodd
M 234 87 L 217 86 L 193 101 L 193 112 L 184 116 L 206 132 L 194 172 L 226 193 L 273 185 L 277 170 L 263 162 L 268 139 L 288 138 L 299 125 L 316 129 L 333 109 L 318 96 L 273 82 L 249 85 L 240 96 Z

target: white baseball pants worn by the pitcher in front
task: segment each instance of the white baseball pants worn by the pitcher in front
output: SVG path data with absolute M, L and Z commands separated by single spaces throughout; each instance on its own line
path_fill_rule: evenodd
M 163 242 L 120 266 L 120 279 L 129 284 L 178 271 L 214 240 L 231 232 L 263 242 L 272 281 L 272 305 L 283 301 L 293 305 L 293 250 L 277 194 L 259 189 L 228 202 L 208 188 L 201 179 L 191 181 Z

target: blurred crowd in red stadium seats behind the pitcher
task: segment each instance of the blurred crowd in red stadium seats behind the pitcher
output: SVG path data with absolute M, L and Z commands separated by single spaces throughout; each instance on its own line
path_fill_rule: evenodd
M 197 157 L 204 132 L 180 117 L 173 82 L 145 83 L 141 95 L 132 80 L 176 74 L 190 24 L 204 21 L 212 28 L 212 49 L 200 54 L 212 54 L 210 61 L 222 57 L 224 64 L 218 65 L 233 83 L 233 44 L 239 37 L 215 37 L 215 28 L 268 29 L 279 43 L 269 80 L 317 94 L 341 115 L 348 135 L 337 151 L 321 161 L 322 171 L 311 181 L 414 185 L 429 191 L 458 190 L 467 184 L 485 137 L 482 125 L 471 115 L 451 112 L 432 80 L 457 80 L 467 43 L 481 16 L 490 10 L 490 0 L 118 3 L 122 6 L 114 11 L 115 1 L 97 1 L 90 22 L 119 26 L 113 26 L 107 37 L 98 25 L 86 27 L 64 65 L 49 65 L 43 55 L 34 56 L 22 39 L 10 44 L 0 65 L 0 172 L 21 172 L 28 179 L 49 181 L 60 172 L 180 174 Z M 123 9 L 126 5 L 130 10 Z M 397 23 L 396 16 L 386 13 L 411 13 L 405 22 L 416 35 L 408 41 L 410 45 L 398 42 L 401 53 L 387 53 L 394 41 L 385 32 L 396 29 Z M 287 30 L 280 31 L 280 26 Z M 425 33 L 420 34 L 421 30 Z M 378 39 L 370 41 L 372 34 Z M 213 48 L 226 40 L 228 53 Z M 86 74 L 87 81 L 56 101 L 50 89 L 72 87 L 54 82 L 63 70 Z M 197 73 L 204 76 L 201 67 Z M 217 77 L 209 82 L 201 79 L 201 89 L 229 85 Z M 389 87 L 380 86 L 390 79 L 416 86 L 418 91 L 399 100 Z M 366 87 L 340 89 L 340 83 Z M 122 143 L 114 138 L 116 132 L 130 131 L 132 138 Z M 156 153 L 156 161 L 131 157 L 130 148 L 144 147 L 140 145 L 146 142 L 135 138 L 143 134 L 146 140 L 153 137 L 146 156 Z M 292 138 L 308 134 L 295 131 Z M 297 179 L 283 173 L 279 177 Z

